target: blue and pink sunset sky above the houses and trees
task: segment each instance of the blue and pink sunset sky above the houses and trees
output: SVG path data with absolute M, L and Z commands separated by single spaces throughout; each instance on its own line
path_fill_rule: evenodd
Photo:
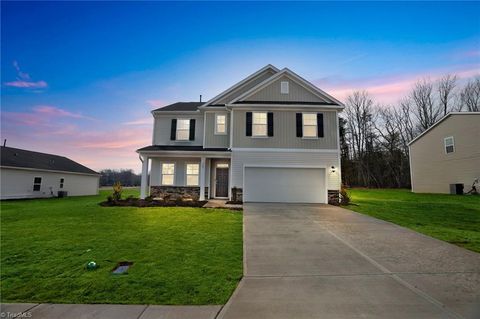
M 207 100 L 271 63 L 393 104 L 480 73 L 480 3 L 1 4 L 1 136 L 95 170 L 140 170 L 150 111 Z

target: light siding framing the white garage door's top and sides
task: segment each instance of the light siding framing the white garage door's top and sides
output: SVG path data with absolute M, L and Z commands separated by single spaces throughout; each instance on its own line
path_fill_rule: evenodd
M 243 169 L 245 166 L 270 167 L 319 167 L 327 168 L 327 189 L 340 190 L 339 155 L 337 152 L 269 152 L 269 151 L 233 151 L 231 176 L 232 187 L 243 188 Z M 335 166 L 334 173 L 328 169 Z

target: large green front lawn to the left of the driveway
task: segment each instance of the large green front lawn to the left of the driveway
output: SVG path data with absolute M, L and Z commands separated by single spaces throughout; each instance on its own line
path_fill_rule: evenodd
M 99 206 L 109 193 L 1 203 L 2 302 L 228 300 L 243 271 L 241 212 Z M 134 265 L 113 275 L 118 261 Z

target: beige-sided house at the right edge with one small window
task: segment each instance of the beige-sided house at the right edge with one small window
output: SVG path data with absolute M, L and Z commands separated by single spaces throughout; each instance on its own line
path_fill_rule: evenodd
M 409 143 L 412 191 L 454 193 L 480 178 L 480 112 L 449 113 Z

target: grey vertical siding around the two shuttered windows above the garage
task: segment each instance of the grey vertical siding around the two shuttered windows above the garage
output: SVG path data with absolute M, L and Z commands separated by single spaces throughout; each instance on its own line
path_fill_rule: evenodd
M 246 136 L 245 110 L 233 110 L 233 141 L 232 147 L 244 148 L 306 148 L 306 149 L 337 149 L 337 116 L 335 111 L 307 111 L 307 113 L 323 113 L 324 137 L 297 137 L 296 113 L 301 111 L 273 110 L 273 136 Z M 250 111 L 248 111 L 250 112 Z M 252 111 L 255 112 L 255 111 Z M 268 110 L 259 112 L 269 112 Z

